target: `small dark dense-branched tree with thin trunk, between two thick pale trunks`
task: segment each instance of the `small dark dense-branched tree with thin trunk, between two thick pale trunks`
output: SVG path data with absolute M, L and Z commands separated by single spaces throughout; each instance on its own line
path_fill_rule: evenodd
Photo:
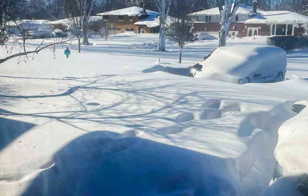
M 179 63 L 182 63 L 183 47 L 190 42 L 192 33 L 192 17 L 188 16 L 191 13 L 191 4 L 188 0 L 175 0 L 173 6 L 174 13 L 173 17 L 169 17 L 166 35 L 177 41 L 180 47 Z

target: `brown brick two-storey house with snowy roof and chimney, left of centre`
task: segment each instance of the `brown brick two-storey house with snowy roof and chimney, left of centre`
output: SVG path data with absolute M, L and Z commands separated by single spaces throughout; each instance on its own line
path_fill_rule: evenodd
M 102 16 L 105 23 L 112 25 L 110 34 L 159 32 L 159 13 L 145 9 L 145 6 L 143 8 L 134 6 L 97 15 Z

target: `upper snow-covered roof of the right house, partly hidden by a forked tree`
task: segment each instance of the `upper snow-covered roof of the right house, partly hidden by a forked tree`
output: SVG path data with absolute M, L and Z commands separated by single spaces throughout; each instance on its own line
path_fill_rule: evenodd
M 232 3 L 232 8 L 234 6 L 234 3 Z M 222 8 L 224 8 L 225 6 L 222 6 Z M 257 9 L 257 13 L 261 13 L 263 10 L 261 9 Z M 240 4 L 240 7 L 238 8 L 238 10 L 236 11 L 236 14 L 241 15 L 241 14 L 248 14 L 248 15 L 253 15 L 255 13 L 253 13 L 253 7 L 248 6 L 248 5 L 243 5 Z M 202 10 L 199 12 L 194 12 L 191 13 L 190 15 L 220 15 L 219 9 L 217 8 L 211 8 L 211 9 L 206 9 L 206 10 Z

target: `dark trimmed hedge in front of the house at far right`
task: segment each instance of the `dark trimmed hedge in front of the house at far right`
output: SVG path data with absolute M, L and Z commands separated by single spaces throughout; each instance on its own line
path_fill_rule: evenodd
M 285 50 L 306 48 L 308 47 L 308 35 L 268 37 L 266 38 L 266 44 L 278 46 Z

